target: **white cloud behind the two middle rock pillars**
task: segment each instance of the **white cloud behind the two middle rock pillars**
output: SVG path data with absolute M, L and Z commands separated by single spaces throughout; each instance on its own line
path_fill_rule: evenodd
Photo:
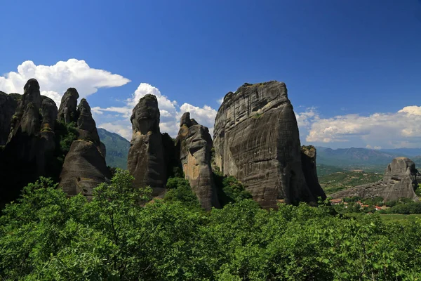
M 121 117 L 120 119 L 115 119 L 111 115 L 108 115 L 113 120 L 100 123 L 98 126 L 119 133 L 124 138 L 130 139 L 132 134 L 130 117 L 133 107 L 138 104 L 140 98 L 148 93 L 156 96 L 158 100 L 159 112 L 161 114 L 161 123 L 159 124 L 161 132 L 169 133 L 173 137 L 177 136 L 181 115 L 184 112 L 190 112 L 190 117 L 196 119 L 199 124 L 207 126 L 210 135 L 213 135 L 213 123 L 216 116 L 215 109 L 208 105 L 198 107 L 189 103 L 183 103 L 179 106 L 176 100 L 171 100 L 168 96 L 163 95 L 158 88 L 147 83 L 141 83 L 132 96 L 125 100 L 125 105 L 122 107 L 93 107 L 92 110 L 95 115 L 102 115 L 101 117 L 98 117 L 98 119 L 107 119 L 104 118 L 103 115 L 110 112 L 114 112 L 117 117 Z

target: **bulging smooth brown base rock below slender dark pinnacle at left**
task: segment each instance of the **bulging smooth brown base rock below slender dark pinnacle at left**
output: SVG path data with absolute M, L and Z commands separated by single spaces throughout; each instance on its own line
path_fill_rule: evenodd
M 66 155 L 60 174 L 60 188 L 69 196 L 82 193 L 90 198 L 93 189 L 109 181 L 105 158 L 95 143 L 76 140 Z

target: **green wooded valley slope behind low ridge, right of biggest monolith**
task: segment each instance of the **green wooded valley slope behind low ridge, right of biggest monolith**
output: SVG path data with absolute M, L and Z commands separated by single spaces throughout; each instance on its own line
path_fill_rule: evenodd
M 353 188 L 365 183 L 374 183 L 382 179 L 382 174 L 361 171 L 340 171 L 326 176 L 319 176 L 319 183 L 326 195 Z

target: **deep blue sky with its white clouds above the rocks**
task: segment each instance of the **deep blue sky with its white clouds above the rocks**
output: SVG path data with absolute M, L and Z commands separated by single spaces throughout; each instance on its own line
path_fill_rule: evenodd
M 174 135 L 183 110 L 212 128 L 225 93 L 278 80 L 302 143 L 421 147 L 417 0 L 5 1 L 1 18 L 1 91 L 75 86 L 126 138 L 147 92 Z

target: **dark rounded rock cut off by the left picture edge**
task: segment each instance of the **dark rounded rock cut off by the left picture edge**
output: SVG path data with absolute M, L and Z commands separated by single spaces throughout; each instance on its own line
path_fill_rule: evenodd
M 0 91 L 0 145 L 5 145 L 11 131 L 11 121 L 18 102 L 12 96 Z

